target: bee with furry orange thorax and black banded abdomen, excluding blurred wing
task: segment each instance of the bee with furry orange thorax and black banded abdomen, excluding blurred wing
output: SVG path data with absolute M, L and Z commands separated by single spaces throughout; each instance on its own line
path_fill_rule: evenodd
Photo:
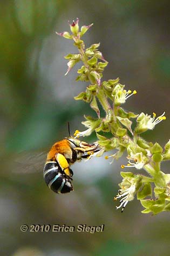
M 47 153 L 43 171 L 45 183 L 55 193 L 69 193 L 73 190 L 70 165 L 97 151 L 97 143 L 88 144 L 72 136 L 56 142 Z

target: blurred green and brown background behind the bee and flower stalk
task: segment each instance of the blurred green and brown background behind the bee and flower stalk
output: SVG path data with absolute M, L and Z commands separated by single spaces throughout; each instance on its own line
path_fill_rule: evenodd
M 73 100 L 86 85 L 75 82 L 76 68 L 64 76 L 63 56 L 76 49 L 55 33 L 68 30 L 67 21 L 77 17 L 80 25 L 94 23 L 84 40 L 87 47 L 101 43 L 109 62 L 105 80 L 119 76 L 121 84 L 137 89 L 125 109 L 166 111 L 167 120 L 145 135 L 164 146 L 170 137 L 169 10 L 167 0 L 0 2 L 1 256 L 169 255 L 169 213 L 141 214 L 137 200 L 123 214 L 115 210 L 112 200 L 126 158 L 112 165 L 104 157 L 74 164 L 74 191 L 66 195 L 52 193 L 42 172 L 13 172 L 16 153 L 36 156 L 68 136 L 67 121 L 73 134 L 84 130 L 84 114 L 95 117 L 89 105 Z M 169 172 L 168 165 L 162 168 Z M 23 224 L 105 224 L 105 229 L 94 234 L 24 233 Z

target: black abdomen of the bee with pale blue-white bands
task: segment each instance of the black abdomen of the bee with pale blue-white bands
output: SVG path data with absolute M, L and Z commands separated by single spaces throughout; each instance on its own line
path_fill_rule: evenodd
M 47 186 L 55 193 L 69 193 L 73 190 L 71 181 L 62 173 L 57 162 L 47 162 L 43 173 Z

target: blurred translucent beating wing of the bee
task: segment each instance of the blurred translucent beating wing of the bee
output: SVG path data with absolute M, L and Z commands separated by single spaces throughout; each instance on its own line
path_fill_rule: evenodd
M 12 172 L 18 174 L 31 174 L 43 171 L 47 151 L 21 152 L 11 162 Z

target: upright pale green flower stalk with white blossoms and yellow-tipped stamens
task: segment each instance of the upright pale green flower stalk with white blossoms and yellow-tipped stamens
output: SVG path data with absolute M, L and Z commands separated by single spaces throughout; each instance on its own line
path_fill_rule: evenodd
M 92 44 L 89 48 L 85 47 L 81 37 L 91 28 L 93 24 L 83 25 L 79 30 L 79 20 L 70 24 L 71 33 L 64 31 L 57 33 L 66 39 L 73 40 L 74 46 L 77 47 L 76 54 L 65 56 L 67 62 L 67 72 L 82 62 L 83 66 L 78 69 L 76 81 L 87 82 L 85 92 L 81 92 L 75 100 L 83 100 L 89 103 L 91 108 L 96 112 L 96 118 L 85 116 L 82 124 L 87 128 L 85 131 L 74 133 L 75 137 L 89 136 L 96 132 L 100 151 L 89 155 L 102 156 L 106 151 L 115 152 L 105 159 L 119 159 L 124 152 L 127 154 L 127 163 L 121 165 L 121 169 L 131 168 L 133 172 L 120 172 L 123 181 L 119 184 L 120 189 L 114 197 L 114 201 L 119 201 L 117 209 L 121 208 L 123 212 L 128 202 L 135 197 L 140 200 L 145 208 L 142 213 L 158 214 L 170 210 L 170 174 L 161 171 L 161 162 L 170 159 L 170 140 L 164 149 L 158 144 L 147 142 L 141 137 L 141 133 L 147 130 L 153 130 L 155 125 L 165 120 L 165 112 L 156 117 L 148 114 L 135 114 L 128 112 L 122 107 L 130 97 L 137 91 L 126 90 L 121 85 L 119 78 L 103 80 L 103 71 L 108 65 L 103 54 L 98 50 L 100 43 Z M 65 74 L 65 75 L 66 75 Z M 105 111 L 105 116 L 100 116 L 100 106 Z M 132 123 L 134 129 L 132 129 Z M 107 138 L 106 133 L 112 135 Z M 140 170 L 145 170 L 146 175 L 140 174 Z M 137 170 L 137 174 L 135 174 Z M 154 189 L 152 189 L 154 188 Z

